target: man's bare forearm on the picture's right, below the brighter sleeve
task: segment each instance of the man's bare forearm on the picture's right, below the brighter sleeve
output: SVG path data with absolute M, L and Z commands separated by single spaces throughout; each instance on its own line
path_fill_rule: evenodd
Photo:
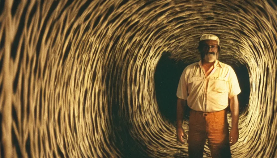
M 239 122 L 239 102 L 237 99 L 237 95 L 230 99 L 230 109 L 232 114 L 232 128 L 238 128 Z

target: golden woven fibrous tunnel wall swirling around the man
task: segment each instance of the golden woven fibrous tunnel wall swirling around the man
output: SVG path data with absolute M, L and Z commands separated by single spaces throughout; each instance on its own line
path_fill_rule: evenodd
M 164 52 L 199 61 L 199 38 L 213 33 L 220 60 L 249 73 L 232 156 L 277 157 L 273 1 L 0 3 L 1 156 L 187 157 L 159 110 L 154 74 Z

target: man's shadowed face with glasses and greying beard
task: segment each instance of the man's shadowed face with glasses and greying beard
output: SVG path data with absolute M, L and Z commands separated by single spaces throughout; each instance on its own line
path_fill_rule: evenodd
M 206 62 L 212 63 L 217 59 L 218 56 L 218 45 L 216 40 L 203 40 L 200 47 L 201 59 Z

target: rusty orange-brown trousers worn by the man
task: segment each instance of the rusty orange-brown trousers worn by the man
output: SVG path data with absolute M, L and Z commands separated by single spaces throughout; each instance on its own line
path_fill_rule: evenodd
M 189 157 L 202 158 L 204 145 L 208 139 L 213 158 L 230 158 L 227 110 L 204 113 L 190 110 Z

